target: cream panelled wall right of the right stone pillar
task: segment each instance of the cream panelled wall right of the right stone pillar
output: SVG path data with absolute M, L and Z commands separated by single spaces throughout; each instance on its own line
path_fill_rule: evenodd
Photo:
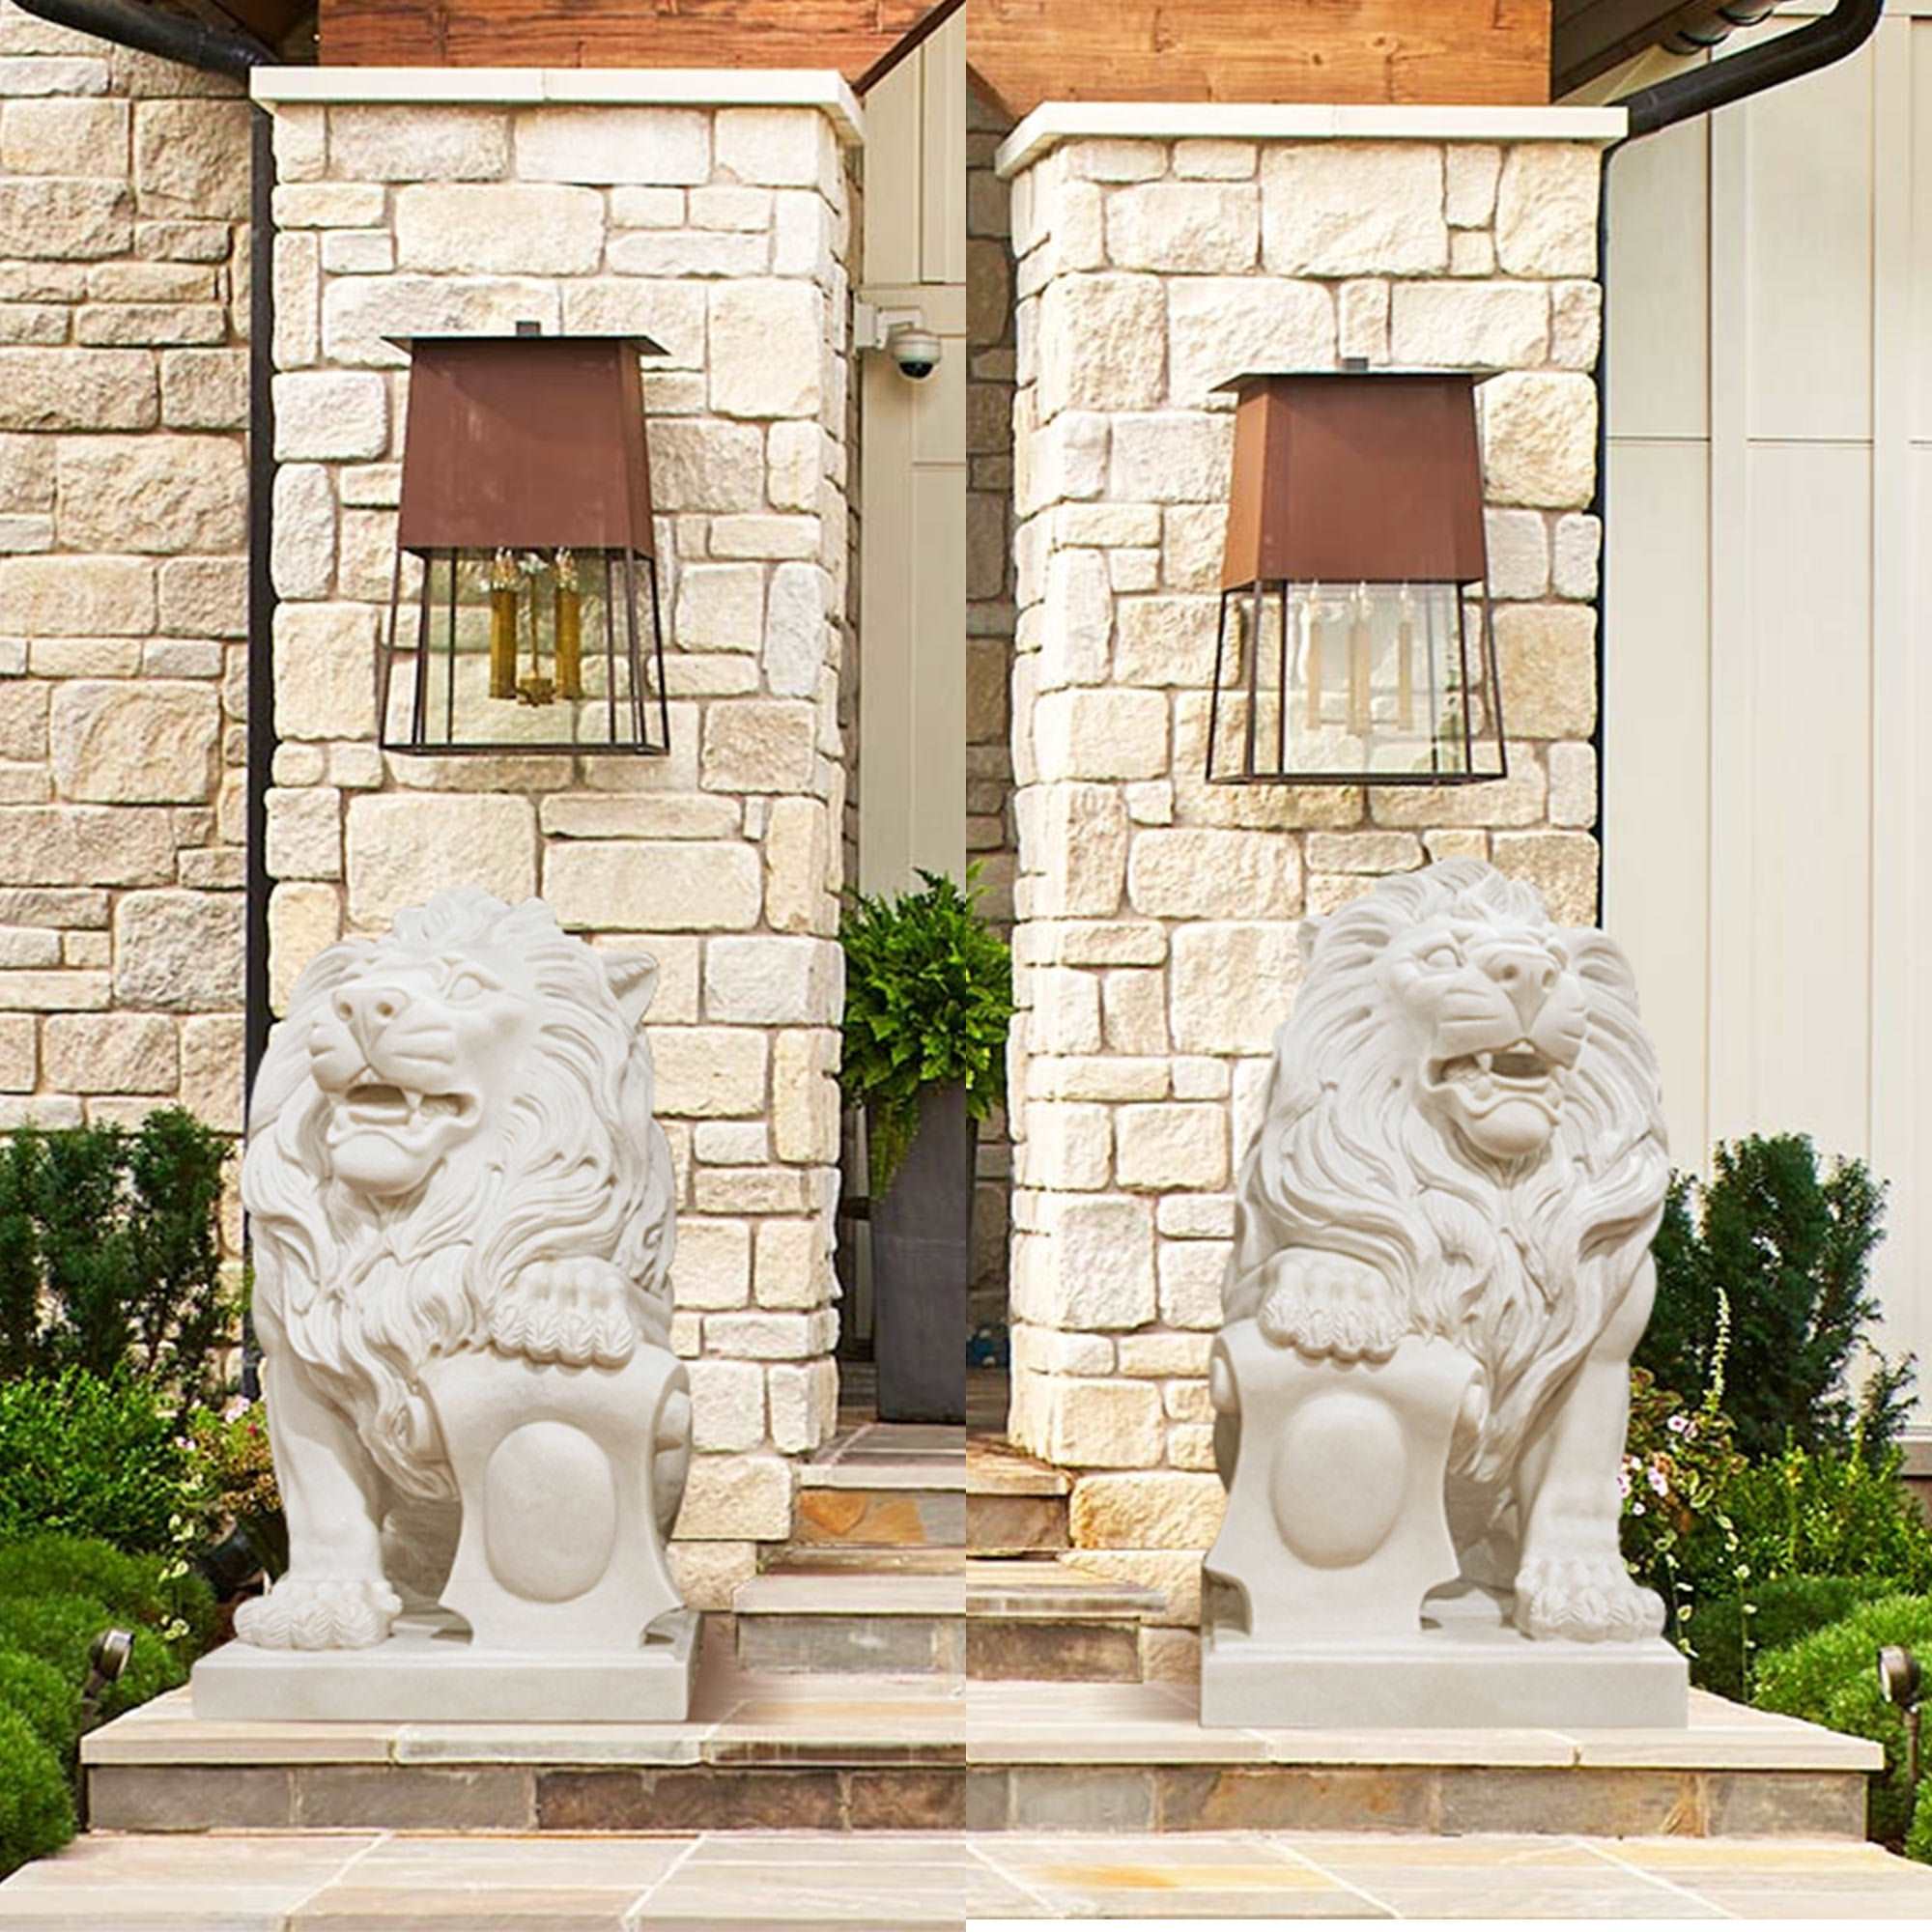
M 1607 205 L 1605 925 L 1679 1165 L 1804 1130 L 1891 1182 L 1932 1379 L 1932 0 Z

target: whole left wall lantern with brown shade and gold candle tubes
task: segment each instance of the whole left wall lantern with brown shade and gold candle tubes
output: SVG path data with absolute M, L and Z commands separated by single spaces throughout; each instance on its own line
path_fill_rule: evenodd
M 670 715 L 638 355 L 663 350 L 529 325 L 396 342 L 410 413 L 377 661 L 383 750 L 661 757 Z M 413 599 L 406 554 L 423 564 Z M 398 680 L 402 661 L 413 674 Z

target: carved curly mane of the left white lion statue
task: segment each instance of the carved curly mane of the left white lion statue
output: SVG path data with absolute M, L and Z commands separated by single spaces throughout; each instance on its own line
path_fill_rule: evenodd
M 388 960 L 479 943 L 524 960 L 537 1001 L 516 1097 L 479 1128 L 481 1163 L 446 1161 L 396 1204 L 330 1179 L 328 1099 L 309 1068 L 319 1010 Z M 379 939 L 321 952 L 269 1037 L 242 1169 L 257 1302 L 404 1495 L 456 1493 L 412 1418 L 419 1370 L 483 1347 L 493 1296 L 527 1264 L 609 1260 L 639 1316 L 668 1321 L 670 1148 L 651 1113 L 649 1049 L 612 985 L 624 970 L 541 900 L 512 908 L 466 887 L 398 912 Z

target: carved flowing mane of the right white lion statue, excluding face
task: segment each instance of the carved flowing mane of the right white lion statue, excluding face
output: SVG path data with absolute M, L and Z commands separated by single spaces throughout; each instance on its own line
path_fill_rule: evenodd
M 1285 1248 L 1378 1269 L 1420 1335 L 1468 1349 L 1490 1410 L 1457 1478 L 1507 1486 L 1526 1432 L 1604 1333 L 1650 1248 L 1669 1159 L 1658 1059 L 1623 952 L 1594 929 L 1561 933 L 1584 989 L 1588 1036 L 1551 1146 L 1484 1159 L 1418 1105 L 1408 1028 L 1378 972 L 1405 929 L 1443 920 L 1555 931 L 1542 898 L 1474 860 L 1383 879 L 1302 929 L 1302 985 L 1275 1036 L 1262 1128 L 1240 1171 L 1229 1321 L 1254 1316 L 1264 1267 Z

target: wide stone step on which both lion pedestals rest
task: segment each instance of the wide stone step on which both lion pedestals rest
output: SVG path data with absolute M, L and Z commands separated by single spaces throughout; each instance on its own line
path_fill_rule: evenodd
M 707 1660 L 686 1723 L 211 1723 L 184 1690 L 85 1737 L 81 1760 L 97 1833 L 966 1828 L 1760 1843 L 1857 1841 L 1864 1781 L 1882 1764 L 1864 1739 L 1704 1692 L 1690 1696 L 1689 1727 L 1669 1731 L 1204 1731 L 1188 1685 L 1055 1683 L 1016 1696 L 941 1679 L 761 1677 L 723 1654 L 717 1667 Z M 71 1857 L 104 1843 L 91 1837 Z

